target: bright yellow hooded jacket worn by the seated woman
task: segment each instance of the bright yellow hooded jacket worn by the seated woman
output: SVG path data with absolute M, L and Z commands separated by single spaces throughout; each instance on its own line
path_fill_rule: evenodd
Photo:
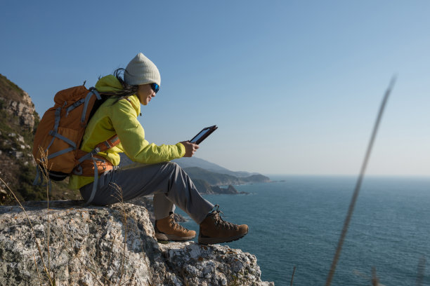
M 113 75 L 99 79 L 95 88 L 99 92 L 121 90 L 121 83 Z M 90 152 L 100 142 L 117 134 L 121 143 L 105 152 L 98 153 L 113 165 L 119 165 L 119 152 L 124 152 L 132 161 L 154 164 L 171 161 L 185 155 L 183 144 L 161 145 L 150 144 L 145 140 L 145 131 L 137 120 L 141 113 L 141 102 L 136 95 L 128 99 L 108 99 L 97 109 L 86 126 L 82 137 L 81 149 Z M 69 180 L 70 189 L 80 189 L 94 181 L 94 177 L 72 175 Z

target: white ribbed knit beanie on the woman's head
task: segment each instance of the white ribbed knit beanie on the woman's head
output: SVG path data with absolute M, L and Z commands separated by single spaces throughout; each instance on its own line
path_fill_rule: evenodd
M 146 83 L 157 83 L 160 86 L 161 77 L 155 64 L 145 57 L 143 53 L 138 53 L 127 64 L 124 71 L 124 81 L 131 86 L 138 86 Z

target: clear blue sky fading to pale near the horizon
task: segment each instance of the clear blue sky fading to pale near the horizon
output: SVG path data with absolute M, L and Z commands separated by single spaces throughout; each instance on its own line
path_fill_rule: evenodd
M 430 1 L 1 1 L 0 73 L 39 115 L 138 52 L 162 76 L 146 139 L 263 174 L 430 175 Z

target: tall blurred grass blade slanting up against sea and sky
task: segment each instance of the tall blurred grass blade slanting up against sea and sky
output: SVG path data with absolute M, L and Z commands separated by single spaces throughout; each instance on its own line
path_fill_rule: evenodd
M 356 188 L 354 189 L 354 193 L 353 193 L 353 197 L 351 198 L 351 203 L 348 207 L 348 213 L 346 214 L 346 219 L 344 222 L 344 227 L 341 231 L 341 236 L 339 238 L 339 243 L 337 244 L 337 250 L 336 253 L 334 254 L 334 258 L 332 261 L 332 266 L 330 267 L 330 272 L 329 275 L 327 277 L 327 281 L 325 283 L 326 286 L 330 286 L 330 284 L 332 283 L 332 279 L 333 279 L 333 275 L 334 275 L 334 271 L 336 271 L 336 266 L 337 266 L 337 261 L 339 260 L 339 256 L 341 254 L 341 250 L 342 250 L 342 246 L 344 245 L 344 240 L 346 237 L 346 232 L 348 231 L 348 227 L 349 227 L 349 223 L 351 222 L 351 217 L 354 211 L 354 207 L 356 205 L 356 201 L 358 198 L 358 193 L 360 192 L 360 188 L 361 188 L 361 183 L 363 182 L 363 177 L 365 175 L 365 170 L 367 168 L 367 163 L 369 161 L 370 158 L 370 153 L 372 152 L 372 147 L 373 147 L 373 143 L 374 143 L 374 139 L 376 138 L 377 132 L 378 132 L 378 128 L 379 128 L 379 123 L 381 123 L 381 119 L 382 119 L 382 114 L 384 114 L 384 109 L 386 106 L 386 102 L 389 99 L 389 95 L 391 93 L 391 90 L 393 89 L 394 83 L 396 82 L 396 77 L 393 76 L 393 79 L 391 79 L 391 82 L 389 84 L 389 88 L 387 88 L 384 97 L 382 99 L 382 103 L 381 106 L 379 107 L 379 112 L 378 112 L 378 116 L 377 119 L 374 123 L 374 128 L 372 131 L 372 136 L 370 137 L 370 142 L 369 145 L 367 146 L 367 151 L 365 154 L 365 158 L 363 161 L 363 165 L 361 166 L 361 170 L 360 170 L 360 175 L 358 176 L 357 179 L 357 183 L 356 183 Z

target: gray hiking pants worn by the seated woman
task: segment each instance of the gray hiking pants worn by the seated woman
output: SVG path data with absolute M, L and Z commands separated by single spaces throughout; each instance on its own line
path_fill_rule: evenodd
M 124 202 L 153 193 L 155 219 L 168 217 L 177 205 L 200 224 L 214 207 L 200 196 L 190 177 L 173 162 L 134 164 L 103 173 L 91 204 L 110 205 L 121 201 L 121 194 L 114 184 L 120 187 Z M 87 201 L 92 190 L 93 183 L 82 186 L 82 198 Z

